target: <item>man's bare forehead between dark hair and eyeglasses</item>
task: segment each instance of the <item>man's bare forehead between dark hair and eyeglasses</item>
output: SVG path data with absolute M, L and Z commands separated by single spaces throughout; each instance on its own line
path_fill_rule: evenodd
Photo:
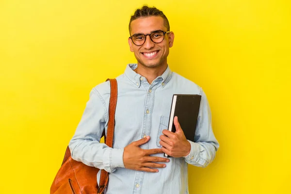
M 131 34 L 150 33 L 156 30 L 166 31 L 164 21 L 161 16 L 150 16 L 135 19 L 130 24 Z

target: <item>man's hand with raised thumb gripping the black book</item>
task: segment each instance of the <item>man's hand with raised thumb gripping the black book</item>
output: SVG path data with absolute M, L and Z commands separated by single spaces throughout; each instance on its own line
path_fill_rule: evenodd
M 174 125 L 176 132 L 167 129 L 162 131 L 163 135 L 160 136 L 162 151 L 174 158 L 187 156 L 191 151 L 191 144 L 187 141 L 177 116 L 174 117 Z

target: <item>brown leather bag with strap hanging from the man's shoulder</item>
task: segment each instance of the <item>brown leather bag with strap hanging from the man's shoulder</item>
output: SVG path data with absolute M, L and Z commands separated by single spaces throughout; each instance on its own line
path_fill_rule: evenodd
M 114 116 L 117 102 L 117 81 L 110 81 L 111 94 L 109 102 L 109 122 L 107 135 L 104 137 L 105 144 L 112 147 L 114 132 Z M 104 135 L 104 131 L 102 136 Z M 71 158 L 69 147 L 66 148 L 65 157 L 61 168 L 54 178 L 50 187 L 50 194 L 104 194 L 108 184 L 109 174 L 104 169 L 101 170 L 99 186 L 97 184 L 97 173 L 99 169 L 87 166 L 82 162 L 77 162 Z

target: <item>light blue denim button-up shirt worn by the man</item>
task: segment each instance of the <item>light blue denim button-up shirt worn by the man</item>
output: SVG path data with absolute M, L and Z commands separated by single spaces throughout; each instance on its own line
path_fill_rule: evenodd
M 129 64 L 125 73 L 116 78 L 118 98 L 115 112 L 113 148 L 100 143 L 103 129 L 107 132 L 110 98 L 109 81 L 98 84 L 76 132 L 69 143 L 72 158 L 89 166 L 110 172 L 105 194 L 189 194 L 188 163 L 206 167 L 213 161 L 219 147 L 211 127 L 211 113 L 207 98 L 198 85 L 169 66 L 151 84 L 135 73 L 137 64 Z M 124 147 L 150 136 L 142 149 L 160 148 L 162 130 L 167 129 L 173 94 L 202 95 L 194 142 L 184 158 L 170 158 L 157 173 L 124 168 Z M 163 157 L 163 154 L 153 156 Z M 99 171 L 100 172 L 100 171 Z M 97 175 L 99 181 L 100 174 Z

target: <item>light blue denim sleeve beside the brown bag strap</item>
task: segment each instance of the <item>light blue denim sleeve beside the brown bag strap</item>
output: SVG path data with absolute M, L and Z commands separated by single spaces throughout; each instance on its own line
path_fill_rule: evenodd
M 97 89 L 93 88 L 81 121 L 69 142 L 69 148 L 74 160 L 111 173 L 116 167 L 124 167 L 124 149 L 114 149 L 100 143 L 107 120 L 105 101 Z

